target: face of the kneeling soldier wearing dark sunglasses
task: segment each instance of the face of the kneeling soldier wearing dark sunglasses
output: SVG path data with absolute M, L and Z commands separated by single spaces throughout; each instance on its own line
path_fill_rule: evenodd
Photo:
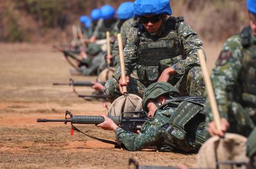
M 148 33 L 155 33 L 162 25 L 163 19 L 161 15 L 152 16 L 147 15 L 139 18 L 140 23 L 143 24 Z

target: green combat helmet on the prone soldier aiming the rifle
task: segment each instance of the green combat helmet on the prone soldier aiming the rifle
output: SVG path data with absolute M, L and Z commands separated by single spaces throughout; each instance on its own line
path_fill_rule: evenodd
M 161 95 L 169 94 L 169 96 L 180 96 L 180 92 L 168 82 L 154 82 L 149 85 L 143 95 L 143 110 L 148 112 L 147 104 L 150 99 L 157 99 Z

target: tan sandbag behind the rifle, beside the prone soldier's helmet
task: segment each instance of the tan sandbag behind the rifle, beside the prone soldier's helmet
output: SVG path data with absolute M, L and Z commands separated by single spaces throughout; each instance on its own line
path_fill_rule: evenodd
M 142 99 L 134 94 L 126 94 L 115 99 L 109 107 L 108 116 L 121 116 L 123 112 L 138 112 L 142 109 Z M 134 117 L 133 114 L 125 114 L 125 117 Z

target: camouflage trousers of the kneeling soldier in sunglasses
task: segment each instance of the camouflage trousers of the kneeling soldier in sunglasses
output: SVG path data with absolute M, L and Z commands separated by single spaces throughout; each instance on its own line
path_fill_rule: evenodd
M 179 79 L 175 81 L 170 80 L 168 82 L 174 85 L 180 91 L 182 96 L 202 97 L 204 94 L 205 84 L 199 66 L 193 67 Z M 152 84 L 152 82 L 150 84 Z M 129 94 L 135 94 L 143 98 L 144 91 L 147 87 L 148 85 L 143 84 L 141 81 L 135 78 L 130 78 L 127 90 Z M 119 91 L 118 81 L 116 81 L 115 78 L 111 78 L 106 82 L 105 92 L 111 103 L 122 95 Z

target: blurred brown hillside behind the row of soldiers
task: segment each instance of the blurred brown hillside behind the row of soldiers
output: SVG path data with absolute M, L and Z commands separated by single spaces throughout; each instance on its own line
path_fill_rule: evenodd
M 0 0 L 0 42 L 70 42 L 72 25 L 94 8 L 123 0 Z M 223 42 L 248 24 L 246 0 L 170 0 L 173 16 L 207 42 Z

